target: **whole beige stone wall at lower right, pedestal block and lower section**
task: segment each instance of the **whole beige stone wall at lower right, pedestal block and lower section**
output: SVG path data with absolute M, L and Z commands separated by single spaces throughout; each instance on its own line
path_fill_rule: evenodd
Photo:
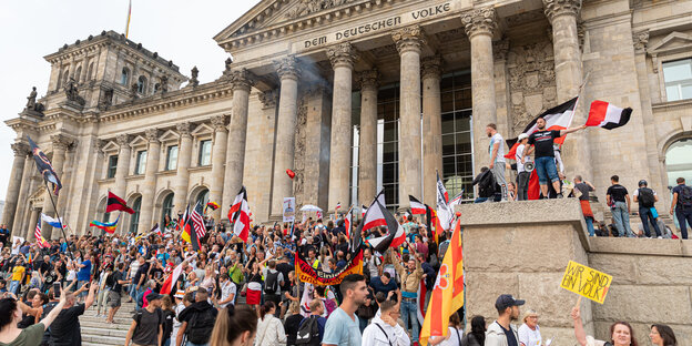
M 587 333 L 607 339 L 615 320 L 635 328 L 640 345 L 649 326 L 669 324 L 680 346 L 692 339 L 692 243 L 671 240 L 591 238 L 577 200 L 465 204 L 464 267 L 468 320 L 497 318 L 495 301 L 507 293 L 540 314 L 545 339 L 576 345 L 570 311 L 578 296 L 560 288 L 576 261 L 613 275 L 606 303 L 582 299 Z

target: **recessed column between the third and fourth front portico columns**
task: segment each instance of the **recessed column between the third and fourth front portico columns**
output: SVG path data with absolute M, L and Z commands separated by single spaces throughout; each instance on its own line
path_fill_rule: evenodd
M 377 194 L 377 86 L 379 72 L 363 71 L 360 82 L 360 143 L 358 144 L 358 200 L 368 205 Z

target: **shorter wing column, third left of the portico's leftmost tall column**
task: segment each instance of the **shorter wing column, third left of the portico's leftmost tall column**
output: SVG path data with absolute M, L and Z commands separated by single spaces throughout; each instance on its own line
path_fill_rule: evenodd
M 156 193 L 156 171 L 161 157 L 161 142 L 159 130 L 144 131 L 149 147 L 146 149 L 146 166 L 144 167 L 144 186 L 142 187 L 142 203 L 140 204 L 140 233 L 147 232 L 154 224 L 154 195 Z M 163 230 L 165 225 L 159 225 Z

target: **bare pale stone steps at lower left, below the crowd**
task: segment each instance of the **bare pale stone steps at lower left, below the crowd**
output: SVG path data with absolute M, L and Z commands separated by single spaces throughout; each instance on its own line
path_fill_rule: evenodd
M 95 304 L 84 312 L 84 315 L 80 316 L 80 326 L 82 329 L 82 345 L 96 346 L 96 345 L 124 345 L 125 337 L 128 336 L 128 329 L 132 324 L 132 311 L 134 309 L 134 303 L 124 303 L 126 297 L 123 298 L 122 306 L 115 313 L 113 324 L 106 324 L 105 317 L 96 317 Z

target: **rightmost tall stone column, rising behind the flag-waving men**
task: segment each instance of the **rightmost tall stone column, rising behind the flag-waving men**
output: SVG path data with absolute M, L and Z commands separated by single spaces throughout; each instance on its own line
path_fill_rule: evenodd
M 559 103 L 576 98 L 582 82 L 581 51 L 577 34 L 577 17 L 581 10 L 581 1 L 543 0 L 546 16 L 552 24 L 552 48 Z M 572 119 L 572 126 L 587 122 L 584 100 L 581 100 L 580 103 L 582 104 Z M 574 176 L 574 174 L 592 176 L 587 131 L 579 131 L 568 136 L 566 145 L 562 147 L 562 161 L 567 176 Z

